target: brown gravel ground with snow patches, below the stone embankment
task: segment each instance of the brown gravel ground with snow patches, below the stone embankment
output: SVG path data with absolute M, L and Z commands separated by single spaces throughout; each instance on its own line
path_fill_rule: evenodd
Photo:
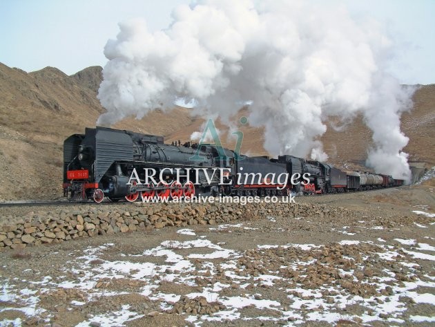
M 352 214 L 1 252 L 0 326 L 435 326 L 433 187 L 296 201 Z

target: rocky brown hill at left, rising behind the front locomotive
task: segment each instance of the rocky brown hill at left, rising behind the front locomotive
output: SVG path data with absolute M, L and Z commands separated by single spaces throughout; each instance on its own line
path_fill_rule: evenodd
M 61 195 L 64 139 L 95 127 L 104 112 L 98 79 L 101 67 L 68 76 L 52 67 L 26 73 L 0 64 L 0 200 Z M 173 115 L 155 111 L 115 128 L 167 134 L 188 124 L 187 109 L 176 108 Z

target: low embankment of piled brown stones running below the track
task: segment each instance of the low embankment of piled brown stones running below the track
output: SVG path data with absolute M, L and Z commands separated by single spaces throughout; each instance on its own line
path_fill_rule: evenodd
M 0 217 L 0 249 L 61 243 L 105 234 L 135 232 L 166 226 L 216 225 L 267 216 L 334 218 L 351 214 L 342 207 L 306 203 L 135 203 L 29 212 Z

